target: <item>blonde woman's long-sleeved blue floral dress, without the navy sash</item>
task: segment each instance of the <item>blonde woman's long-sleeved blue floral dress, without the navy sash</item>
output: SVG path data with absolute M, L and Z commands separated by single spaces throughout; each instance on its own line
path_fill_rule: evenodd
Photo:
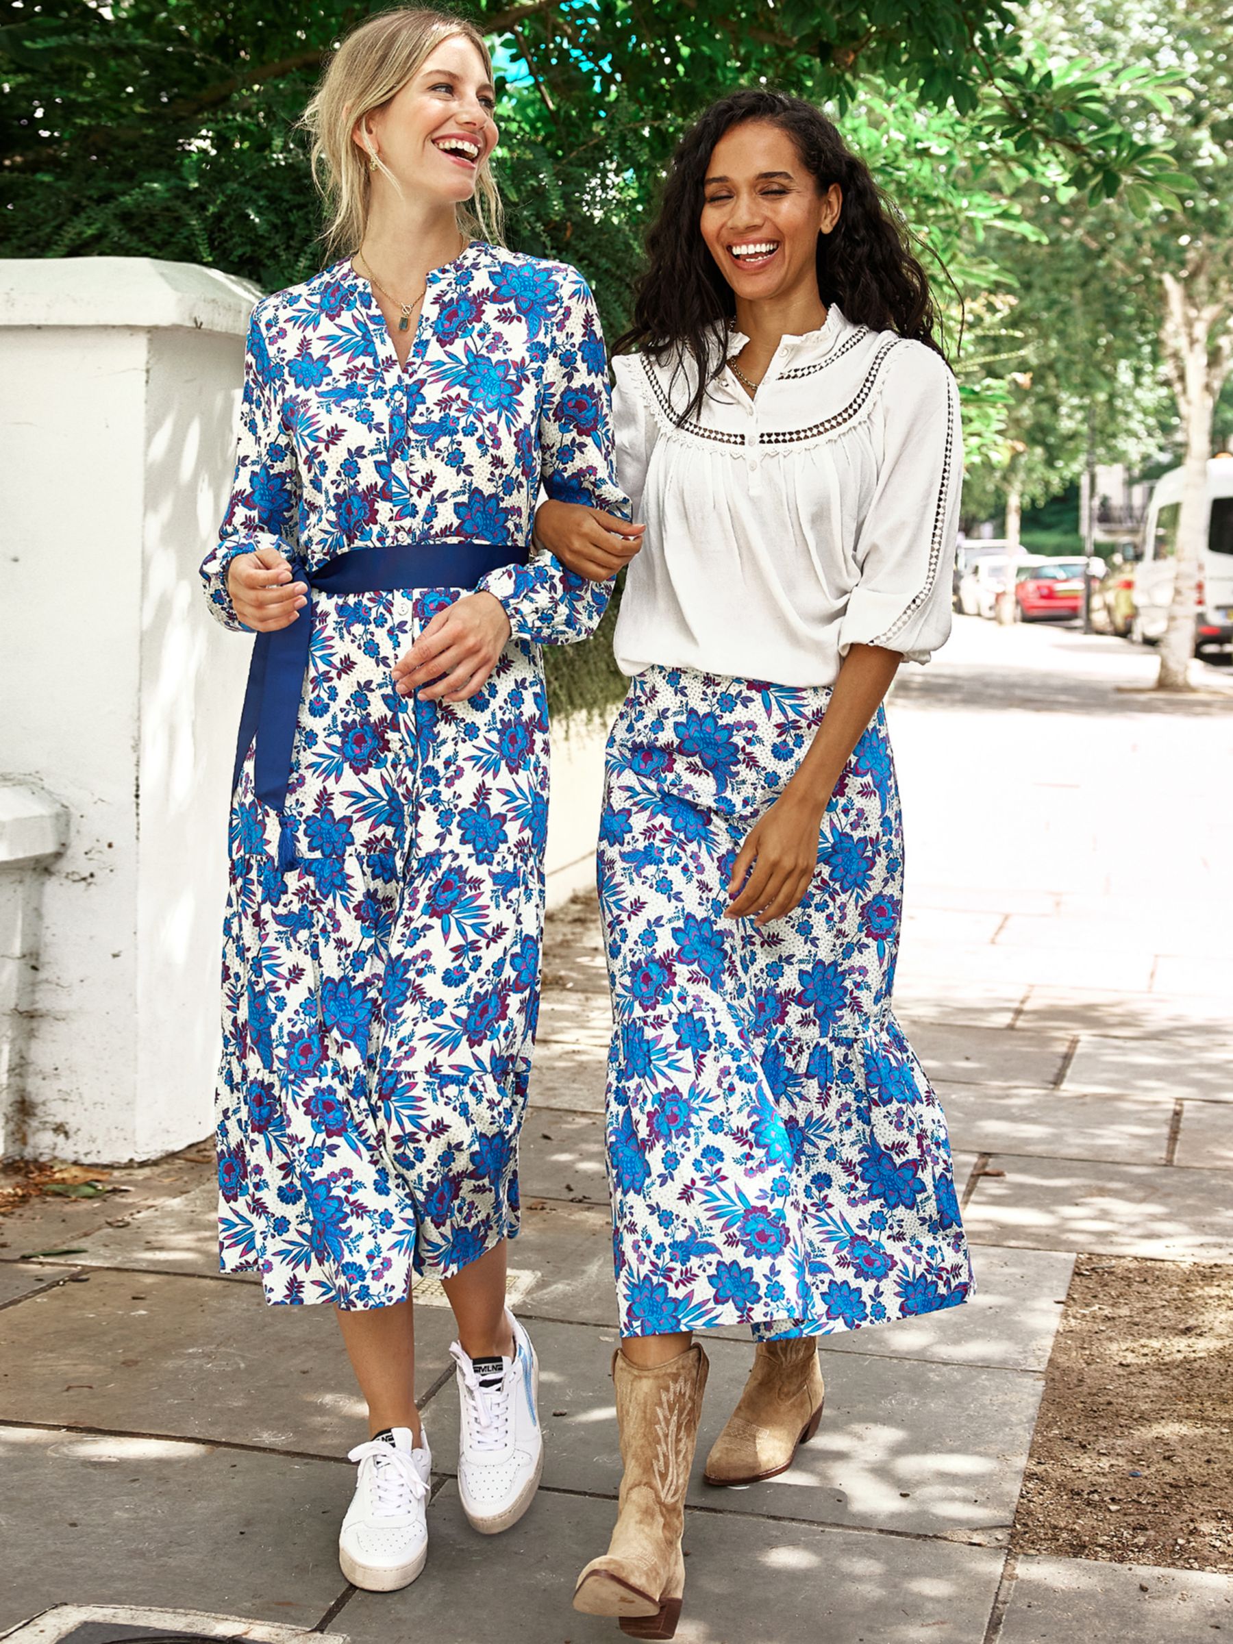
M 429 275 L 404 368 L 337 263 L 258 302 L 235 483 L 202 577 L 434 541 L 524 546 L 539 485 L 628 513 L 595 304 L 557 263 L 472 243 Z M 534 549 L 487 575 L 511 640 L 465 702 L 391 669 L 464 587 L 314 597 L 283 827 L 247 750 L 230 815 L 219 1077 L 227 1272 L 270 1302 L 383 1307 L 518 1231 L 539 1000 L 547 712 L 541 644 L 608 589 Z M 302 620 L 302 618 L 301 618 Z

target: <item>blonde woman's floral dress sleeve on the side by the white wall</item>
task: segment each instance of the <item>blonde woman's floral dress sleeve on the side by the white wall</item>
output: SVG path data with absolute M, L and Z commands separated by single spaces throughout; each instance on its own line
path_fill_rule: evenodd
M 248 633 L 227 592 L 227 567 L 237 554 L 273 547 L 288 557 L 296 549 L 299 516 L 299 467 L 276 409 L 278 367 L 270 357 L 261 306 L 248 322 L 243 357 L 243 398 L 235 452 L 235 478 L 219 544 L 201 566 L 210 612 L 224 628 Z

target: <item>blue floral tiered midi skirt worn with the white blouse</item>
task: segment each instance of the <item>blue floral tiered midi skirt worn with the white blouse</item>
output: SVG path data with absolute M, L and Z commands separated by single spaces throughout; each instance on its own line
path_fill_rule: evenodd
M 829 687 L 638 674 L 608 740 L 598 881 L 623 1335 L 822 1335 L 972 1294 L 945 1120 L 891 1013 L 903 832 L 880 709 L 804 901 L 723 919 L 737 852 Z

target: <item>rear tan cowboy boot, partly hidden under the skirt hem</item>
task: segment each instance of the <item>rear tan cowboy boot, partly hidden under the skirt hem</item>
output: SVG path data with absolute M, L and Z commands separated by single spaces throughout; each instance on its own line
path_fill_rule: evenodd
M 760 1342 L 750 1379 L 707 1457 L 709 1485 L 755 1485 L 792 1465 L 822 1417 L 817 1340 Z

